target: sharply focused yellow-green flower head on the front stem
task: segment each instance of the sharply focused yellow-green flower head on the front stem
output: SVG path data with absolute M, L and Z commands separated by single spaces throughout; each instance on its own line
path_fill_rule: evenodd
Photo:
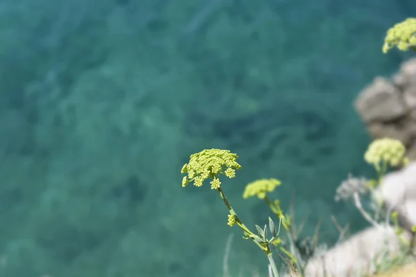
M 188 186 L 193 181 L 195 186 L 202 186 L 205 179 L 211 178 L 211 189 L 220 188 L 221 182 L 218 175 L 223 174 L 228 178 L 236 176 L 236 170 L 241 169 L 236 162 L 239 156 L 230 153 L 229 150 L 209 149 L 192 154 L 189 163 L 185 163 L 181 172 L 187 173 L 182 179 L 182 186 Z

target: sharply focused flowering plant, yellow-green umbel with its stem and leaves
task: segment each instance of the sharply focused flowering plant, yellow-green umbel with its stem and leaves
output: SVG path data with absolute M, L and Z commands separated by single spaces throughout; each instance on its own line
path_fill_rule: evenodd
M 236 170 L 240 170 L 241 166 L 236 162 L 238 156 L 230 153 L 229 150 L 202 150 L 202 152 L 192 154 L 189 163 L 186 163 L 181 172 L 182 174 L 187 173 L 187 176 L 182 179 L 182 186 L 188 186 L 189 183 L 193 182 L 195 186 L 202 186 L 206 179 L 210 179 L 211 189 L 217 190 L 227 210 L 229 211 L 228 222 L 229 226 L 238 225 L 244 233 L 244 239 L 252 240 L 257 246 L 266 253 L 272 276 L 279 277 L 279 271 L 272 253 L 272 243 L 275 240 L 279 240 L 278 235 L 282 218 L 279 218 L 278 229 L 275 226 L 273 220 L 269 217 L 268 227 L 270 230 L 271 237 L 268 240 L 268 229 L 267 225 L 264 228 L 256 225 L 258 235 L 254 234 L 248 229 L 245 224 L 241 221 L 240 217 L 236 214 L 231 204 L 229 204 L 227 197 L 221 188 L 220 175 L 225 175 L 228 178 L 233 178 L 236 175 Z

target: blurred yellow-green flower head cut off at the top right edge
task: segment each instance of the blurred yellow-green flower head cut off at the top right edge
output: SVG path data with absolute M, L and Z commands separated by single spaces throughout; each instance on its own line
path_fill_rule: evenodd
M 407 51 L 408 48 L 415 50 L 416 46 L 416 19 L 408 18 L 390 28 L 384 39 L 383 53 L 387 53 L 391 48 L 400 51 Z

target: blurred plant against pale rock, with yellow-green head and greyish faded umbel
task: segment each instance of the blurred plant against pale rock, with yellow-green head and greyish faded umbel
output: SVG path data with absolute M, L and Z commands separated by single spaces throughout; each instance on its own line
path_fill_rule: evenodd
M 364 154 L 364 159 L 375 169 L 376 179 L 357 178 L 349 175 L 347 180 L 343 181 L 337 188 L 335 199 L 339 201 L 341 199 L 347 200 L 352 198 L 358 211 L 360 211 L 361 215 L 372 226 L 383 231 L 392 230 L 390 227 L 393 227 L 393 230 L 395 230 L 397 238 L 401 242 L 398 253 L 392 256 L 391 249 L 386 247 L 372 261 L 374 267 L 373 273 L 379 274 L 404 265 L 404 263 L 408 262 L 409 254 L 414 249 L 414 236 L 410 241 L 401 236 L 404 233 L 404 228 L 399 225 L 399 213 L 393 211 L 392 208 L 386 208 L 383 199 L 377 197 L 376 193 L 388 170 L 406 166 L 408 164 L 408 158 L 406 157 L 406 148 L 401 141 L 383 138 L 376 139 L 370 143 Z M 373 214 L 366 211 L 361 202 L 361 196 L 365 194 L 370 194 L 370 208 Z

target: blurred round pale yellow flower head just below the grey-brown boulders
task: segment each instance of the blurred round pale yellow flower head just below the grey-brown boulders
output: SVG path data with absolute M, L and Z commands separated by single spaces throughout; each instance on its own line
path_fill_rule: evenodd
M 376 139 L 364 154 L 364 159 L 372 165 L 386 163 L 388 166 L 404 166 L 408 163 L 406 148 L 397 139 Z

